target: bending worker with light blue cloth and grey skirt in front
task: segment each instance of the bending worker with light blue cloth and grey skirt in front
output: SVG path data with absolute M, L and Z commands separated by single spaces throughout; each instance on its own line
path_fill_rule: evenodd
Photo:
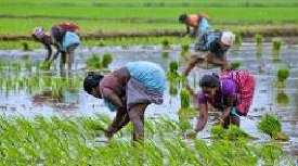
M 131 122 L 132 139 L 141 141 L 144 138 L 145 108 L 151 103 L 163 103 L 166 75 L 155 63 L 130 62 L 106 76 L 90 72 L 83 80 L 83 89 L 103 99 L 109 111 L 116 112 L 116 117 L 105 130 L 107 138 Z

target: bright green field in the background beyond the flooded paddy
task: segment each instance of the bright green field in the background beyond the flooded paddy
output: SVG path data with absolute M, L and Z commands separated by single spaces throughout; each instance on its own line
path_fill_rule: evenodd
M 206 4 L 206 5 L 204 5 Z M 294 5 L 296 4 L 296 5 Z M 47 8 L 43 8 L 46 7 Z M 249 7 L 249 8 L 248 8 Z M 261 8 L 260 8 L 261 7 Z M 81 34 L 98 31 L 184 30 L 178 23 L 181 13 L 207 13 L 212 27 L 238 30 L 261 28 L 283 20 L 297 26 L 297 2 L 286 1 L 8 1 L 0 2 L 0 35 L 29 36 L 35 26 L 49 29 L 61 22 L 75 22 Z M 53 12 L 55 11 L 55 12 Z M 83 15 L 81 14 L 83 11 Z M 245 13 L 245 14 L 243 14 Z M 264 14 L 265 13 L 265 14 Z M 270 22 L 268 22 L 270 21 Z M 119 28 L 120 27 L 120 28 Z

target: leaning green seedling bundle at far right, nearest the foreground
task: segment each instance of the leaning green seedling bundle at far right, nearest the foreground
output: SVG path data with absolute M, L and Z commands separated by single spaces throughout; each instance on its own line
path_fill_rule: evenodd
M 282 124 L 277 117 L 265 114 L 261 120 L 258 123 L 258 129 L 272 139 L 275 140 L 288 140 L 288 137 L 282 131 Z

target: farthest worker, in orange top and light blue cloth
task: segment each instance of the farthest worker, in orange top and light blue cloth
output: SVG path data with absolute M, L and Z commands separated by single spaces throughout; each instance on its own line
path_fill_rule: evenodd
M 208 15 L 206 14 L 181 14 L 179 22 L 186 25 L 186 34 L 196 37 L 211 29 Z

